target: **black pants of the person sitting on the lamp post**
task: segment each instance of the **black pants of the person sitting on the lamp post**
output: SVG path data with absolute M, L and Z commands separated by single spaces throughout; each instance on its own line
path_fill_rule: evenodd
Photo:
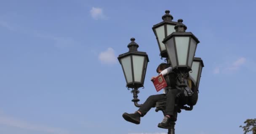
M 143 103 L 143 105 L 139 108 L 138 111 L 141 112 L 141 116 L 144 116 L 150 110 L 150 108 L 155 107 L 155 103 L 157 101 L 166 98 L 165 115 L 173 116 L 175 108 L 175 99 L 178 93 L 178 89 L 171 89 L 166 94 L 151 95 L 147 98 L 147 100 Z

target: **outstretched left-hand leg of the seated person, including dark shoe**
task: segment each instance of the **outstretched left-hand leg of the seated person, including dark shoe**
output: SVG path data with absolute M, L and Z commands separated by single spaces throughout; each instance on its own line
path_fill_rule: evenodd
M 123 118 L 134 124 L 140 124 L 140 117 L 143 117 L 150 108 L 155 106 L 157 101 L 165 98 L 165 94 L 151 95 L 135 113 L 123 113 Z

